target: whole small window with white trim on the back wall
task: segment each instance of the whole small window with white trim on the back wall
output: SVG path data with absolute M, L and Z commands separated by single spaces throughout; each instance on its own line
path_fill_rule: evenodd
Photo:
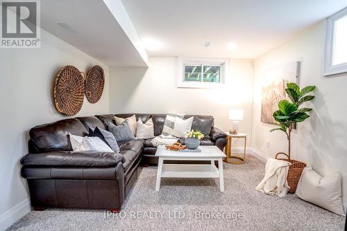
M 216 88 L 224 83 L 228 59 L 178 58 L 179 88 Z

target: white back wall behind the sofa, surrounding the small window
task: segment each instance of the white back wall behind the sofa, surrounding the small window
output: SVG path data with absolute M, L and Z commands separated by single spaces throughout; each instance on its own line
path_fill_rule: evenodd
M 177 57 L 151 56 L 149 68 L 110 69 L 111 113 L 192 113 L 214 116 L 216 127 L 228 131 L 228 109 L 244 109 L 239 132 L 251 135 L 253 62 L 230 60 L 230 74 L 219 89 L 177 88 Z M 250 138 L 250 136 L 248 136 Z M 243 141 L 242 141 L 243 142 Z M 239 145 L 242 145 L 239 142 Z

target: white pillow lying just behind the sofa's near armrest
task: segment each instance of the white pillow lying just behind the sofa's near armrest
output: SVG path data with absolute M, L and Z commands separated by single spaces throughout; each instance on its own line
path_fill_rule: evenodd
M 81 151 L 99 151 L 113 152 L 113 150 L 99 137 L 75 136 L 69 134 L 71 147 L 74 152 Z

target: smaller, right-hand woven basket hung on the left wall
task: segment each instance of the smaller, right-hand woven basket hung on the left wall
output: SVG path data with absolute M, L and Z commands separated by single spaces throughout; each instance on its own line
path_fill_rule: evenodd
M 103 95 L 103 86 L 105 85 L 105 74 L 103 68 L 98 65 L 90 68 L 85 79 L 85 96 L 88 101 L 95 104 Z

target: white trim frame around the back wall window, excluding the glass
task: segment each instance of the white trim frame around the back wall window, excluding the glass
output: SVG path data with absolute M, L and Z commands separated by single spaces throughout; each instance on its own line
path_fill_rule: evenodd
M 178 88 L 220 88 L 226 81 L 229 71 L 228 58 L 194 58 L 194 57 L 178 57 L 177 67 L 177 87 Z M 184 81 L 184 65 L 221 65 L 221 81 L 219 83 L 203 83 Z

